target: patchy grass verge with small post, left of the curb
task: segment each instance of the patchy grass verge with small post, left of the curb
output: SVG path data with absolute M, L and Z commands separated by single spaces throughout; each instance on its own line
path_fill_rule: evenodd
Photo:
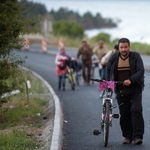
M 24 72 L 20 79 L 24 80 L 19 85 L 21 93 L 7 97 L 9 101 L 3 104 L 4 122 L 0 124 L 1 150 L 37 149 L 44 145 L 39 142 L 38 137 L 44 129 L 41 120 L 47 114 L 51 100 L 46 95 L 49 93 L 48 88 L 30 72 Z M 27 80 L 31 82 L 29 104 L 25 84 Z

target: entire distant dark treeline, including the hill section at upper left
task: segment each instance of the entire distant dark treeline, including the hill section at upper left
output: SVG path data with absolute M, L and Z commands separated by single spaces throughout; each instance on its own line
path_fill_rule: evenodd
M 41 3 L 28 2 L 27 0 L 21 0 L 20 3 L 24 4 L 24 16 L 29 15 L 33 18 L 38 15 L 45 16 L 49 13 L 51 15 L 51 21 L 75 21 L 82 24 L 85 29 L 116 27 L 120 21 L 114 22 L 111 18 L 103 18 L 100 13 L 97 13 L 95 16 L 91 12 L 80 15 L 78 12 L 74 12 L 68 8 L 60 8 L 57 11 L 52 9 L 48 12 L 45 5 Z

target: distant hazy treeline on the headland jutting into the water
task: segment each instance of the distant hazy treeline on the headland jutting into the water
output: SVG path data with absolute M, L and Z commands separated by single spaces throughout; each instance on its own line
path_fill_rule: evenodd
M 73 12 L 67 8 L 60 8 L 58 11 L 51 10 L 50 14 L 53 16 L 55 21 L 75 21 L 82 24 L 85 29 L 109 28 L 117 26 L 117 23 L 115 23 L 111 18 L 103 18 L 100 13 L 93 16 L 90 12 L 86 12 L 83 16 L 81 16 L 78 12 Z

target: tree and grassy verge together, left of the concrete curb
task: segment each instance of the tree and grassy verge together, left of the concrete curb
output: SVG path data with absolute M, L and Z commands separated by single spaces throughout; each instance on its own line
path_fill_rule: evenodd
M 21 58 L 15 52 L 23 47 L 20 36 L 33 31 L 39 18 L 24 17 L 23 6 L 16 0 L 1 1 L 0 11 L 0 150 L 36 149 L 43 144 L 38 141 L 43 127 L 39 121 L 47 113 L 50 97 L 39 95 L 48 93 L 48 89 L 20 69 L 27 57 Z M 32 86 L 28 98 L 26 80 Z M 14 90 L 21 92 L 4 96 Z

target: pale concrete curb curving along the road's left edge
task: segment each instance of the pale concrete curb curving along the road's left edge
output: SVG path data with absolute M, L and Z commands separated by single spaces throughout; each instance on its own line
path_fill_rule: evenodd
M 51 141 L 51 147 L 50 150 L 61 150 L 62 149 L 62 139 L 63 139 L 63 113 L 62 108 L 60 104 L 60 100 L 56 93 L 54 92 L 53 88 L 49 85 L 49 83 L 44 80 L 40 75 L 35 73 L 34 71 L 27 69 L 25 67 L 22 67 L 24 70 L 31 71 L 36 77 L 42 80 L 42 82 L 45 83 L 45 85 L 48 87 L 51 95 L 54 98 L 55 103 L 55 117 L 54 117 L 54 127 L 53 127 L 53 135 L 52 135 L 52 141 Z M 45 133 L 48 133 L 48 128 L 45 129 L 46 131 L 43 131 Z

